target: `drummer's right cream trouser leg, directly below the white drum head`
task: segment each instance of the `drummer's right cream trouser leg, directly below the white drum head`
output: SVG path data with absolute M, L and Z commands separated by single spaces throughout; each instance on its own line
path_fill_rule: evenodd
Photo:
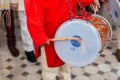
M 69 65 L 63 65 L 59 69 L 61 80 L 71 80 L 71 67 Z

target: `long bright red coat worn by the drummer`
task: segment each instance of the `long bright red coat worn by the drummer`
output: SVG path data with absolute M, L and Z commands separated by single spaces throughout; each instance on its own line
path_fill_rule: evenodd
M 28 30 L 34 41 L 36 58 L 40 56 L 39 47 L 48 39 L 54 38 L 58 27 L 69 19 L 70 12 L 66 0 L 24 0 Z M 93 0 L 79 0 L 84 6 Z M 77 0 L 70 0 L 72 11 L 76 15 Z M 57 56 L 53 42 L 45 46 L 46 59 L 49 67 L 57 67 L 64 62 Z

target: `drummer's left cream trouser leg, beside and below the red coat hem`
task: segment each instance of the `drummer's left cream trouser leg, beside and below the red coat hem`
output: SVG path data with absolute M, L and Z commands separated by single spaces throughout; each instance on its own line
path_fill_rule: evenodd
M 44 47 L 41 47 L 41 64 L 42 64 L 42 78 L 43 80 L 56 80 L 56 76 L 59 71 L 59 67 L 56 68 L 48 68 L 46 63 Z

